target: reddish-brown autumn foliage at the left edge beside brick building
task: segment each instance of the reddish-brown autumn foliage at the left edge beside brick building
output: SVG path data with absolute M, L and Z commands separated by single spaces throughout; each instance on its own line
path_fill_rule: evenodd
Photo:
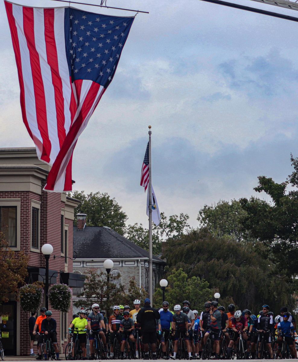
M 17 294 L 27 276 L 29 256 L 12 251 L 0 232 L 0 305 L 8 302 L 9 294 Z

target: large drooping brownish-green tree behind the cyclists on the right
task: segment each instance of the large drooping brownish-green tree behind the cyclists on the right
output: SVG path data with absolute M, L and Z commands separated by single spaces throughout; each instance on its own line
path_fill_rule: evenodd
M 240 309 L 254 311 L 264 303 L 273 311 L 281 305 L 295 306 L 296 279 L 276 269 L 268 258 L 255 251 L 252 243 L 216 237 L 201 229 L 170 239 L 164 253 L 171 271 L 181 268 L 189 278 L 208 281 L 210 289 L 220 292 L 221 303 L 230 301 Z

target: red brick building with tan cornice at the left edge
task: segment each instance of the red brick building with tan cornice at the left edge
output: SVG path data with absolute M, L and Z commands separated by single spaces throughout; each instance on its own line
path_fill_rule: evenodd
M 79 201 L 65 193 L 42 190 L 49 169 L 49 165 L 38 160 L 35 148 L 0 148 L 0 228 L 12 250 L 29 255 L 28 282 L 45 280 L 45 258 L 41 247 L 50 243 L 54 248 L 49 260 L 50 283 L 63 280 L 69 286 L 80 285 L 76 280 L 70 280 L 77 278 L 77 274 L 74 276 L 71 272 L 74 208 Z M 53 310 L 50 304 L 49 309 L 57 321 L 61 347 L 67 338 L 72 309 L 62 313 Z M 0 328 L 8 332 L 5 334 L 8 337 L 2 338 L 5 354 L 28 355 L 29 313 L 22 311 L 14 295 L 0 307 L 0 312 Z M 34 352 L 37 352 L 36 346 Z

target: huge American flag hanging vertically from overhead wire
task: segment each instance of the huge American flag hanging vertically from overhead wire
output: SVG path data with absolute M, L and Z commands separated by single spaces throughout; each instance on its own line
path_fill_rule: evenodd
M 5 2 L 25 126 L 52 166 L 45 190 L 72 190 L 72 153 L 112 81 L 134 17 Z

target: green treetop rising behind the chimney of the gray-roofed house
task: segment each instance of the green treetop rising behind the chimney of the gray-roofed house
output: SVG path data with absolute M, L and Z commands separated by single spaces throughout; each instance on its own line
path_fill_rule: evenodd
M 81 192 L 75 190 L 68 195 L 81 201 L 74 212 L 75 214 L 87 214 L 88 226 L 108 226 L 123 235 L 127 215 L 115 198 L 110 198 L 107 193 L 99 191 L 85 194 L 84 190 Z

